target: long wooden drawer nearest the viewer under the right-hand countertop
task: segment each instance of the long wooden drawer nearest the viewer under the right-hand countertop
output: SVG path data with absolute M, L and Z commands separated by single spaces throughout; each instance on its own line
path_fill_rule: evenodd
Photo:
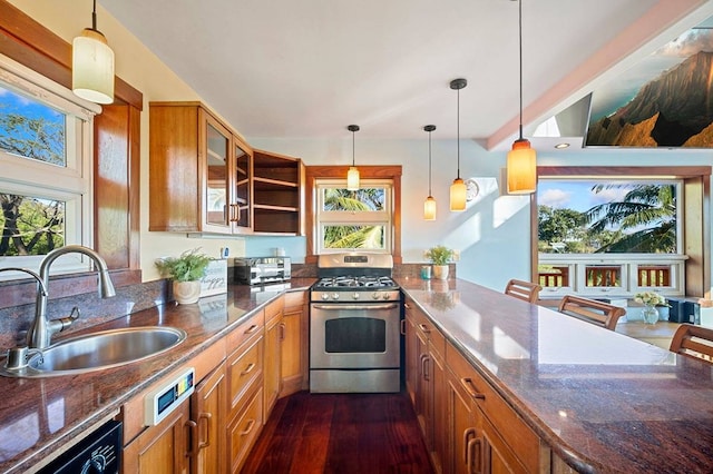
M 446 363 L 458 379 L 469 379 L 467 385 L 479 395 L 473 397 L 476 404 L 492 424 L 497 434 L 517 454 L 529 472 L 537 472 L 539 467 L 537 435 L 451 344 L 446 345 Z

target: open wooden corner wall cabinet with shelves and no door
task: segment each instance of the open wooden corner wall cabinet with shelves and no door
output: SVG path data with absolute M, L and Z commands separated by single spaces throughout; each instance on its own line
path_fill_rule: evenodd
M 253 230 L 304 235 L 304 165 L 299 158 L 254 150 Z

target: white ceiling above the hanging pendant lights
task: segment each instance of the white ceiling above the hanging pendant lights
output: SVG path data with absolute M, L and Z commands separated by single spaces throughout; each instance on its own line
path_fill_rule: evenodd
M 350 124 L 360 138 L 424 138 L 428 124 L 433 139 L 455 138 L 458 93 L 461 138 L 500 149 L 517 135 L 517 1 L 100 3 L 248 138 L 341 139 Z M 526 136 L 710 3 L 524 0 Z M 456 78 L 468 80 L 460 92 Z

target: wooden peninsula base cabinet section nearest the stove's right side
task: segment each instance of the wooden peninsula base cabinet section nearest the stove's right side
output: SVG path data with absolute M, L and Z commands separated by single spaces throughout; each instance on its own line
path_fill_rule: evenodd
M 404 324 L 407 389 L 410 391 L 431 463 L 436 472 L 442 472 L 448 454 L 446 339 L 412 300 L 406 303 Z M 409 366 L 413 374 L 409 374 Z

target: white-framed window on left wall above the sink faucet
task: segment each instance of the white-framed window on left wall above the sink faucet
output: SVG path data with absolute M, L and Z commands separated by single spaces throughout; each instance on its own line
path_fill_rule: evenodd
M 0 57 L 2 267 L 38 269 L 53 248 L 90 245 L 91 127 L 98 110 Z M 58 264 L 65 271 L 88 268 L 77 258 Z

